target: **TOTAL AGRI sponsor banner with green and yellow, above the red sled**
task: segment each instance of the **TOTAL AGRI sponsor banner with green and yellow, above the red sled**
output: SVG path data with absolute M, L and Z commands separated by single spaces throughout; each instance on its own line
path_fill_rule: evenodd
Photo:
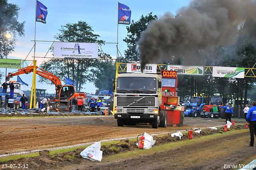
M 204 76 L 204 66 L 167 65 L 166 70 L 177 71 L 180 75 Z

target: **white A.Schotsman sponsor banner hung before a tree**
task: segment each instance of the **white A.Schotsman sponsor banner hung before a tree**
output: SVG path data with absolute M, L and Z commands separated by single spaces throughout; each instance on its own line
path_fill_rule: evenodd
M 54 42 L 54 57 L 98 58 L 98 43 Z

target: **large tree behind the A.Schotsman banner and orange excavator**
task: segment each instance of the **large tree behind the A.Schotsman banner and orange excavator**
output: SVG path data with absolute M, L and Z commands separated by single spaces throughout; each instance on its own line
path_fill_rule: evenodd
M 77 24 L 66 24 L 61 26 L 61 29 L 54 38 L 63 42 L 98 42 L 104 44 L 103 40 L 98 40 L 100 35 L 94 34 L 92 26 L 86 22 L 78 21 Z M 99 50 L 99 58 L 110 58 L 109 55 L 104 54 Z M 53 58 L 40 65 L 40 68 L 51 72 L 58 76 L 60 80 L 65 82 L 65 77 L 75 82 L 76 91 L 80 91 L 86 82 L 94 82 L 94 76 L 91 74 L 92 68 L 100 66 L 98 59 L 90 58 Z M 51 81 L 40 77 L 39 82 L 46 82 L 52 84 Z

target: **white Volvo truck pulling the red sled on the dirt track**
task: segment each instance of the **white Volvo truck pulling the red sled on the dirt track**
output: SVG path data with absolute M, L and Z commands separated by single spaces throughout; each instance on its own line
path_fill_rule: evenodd
M 127 73 L 116 76 L 114 117 L 118 126 L 150 123 L 166 127 L 167 114 L 161 111 L 162 76 Z

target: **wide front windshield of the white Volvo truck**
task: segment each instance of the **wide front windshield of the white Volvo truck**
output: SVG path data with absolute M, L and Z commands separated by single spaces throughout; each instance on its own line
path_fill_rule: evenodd
M 156 93 L 156 78 L 119 77 L 116 82 L 117 93 Z

